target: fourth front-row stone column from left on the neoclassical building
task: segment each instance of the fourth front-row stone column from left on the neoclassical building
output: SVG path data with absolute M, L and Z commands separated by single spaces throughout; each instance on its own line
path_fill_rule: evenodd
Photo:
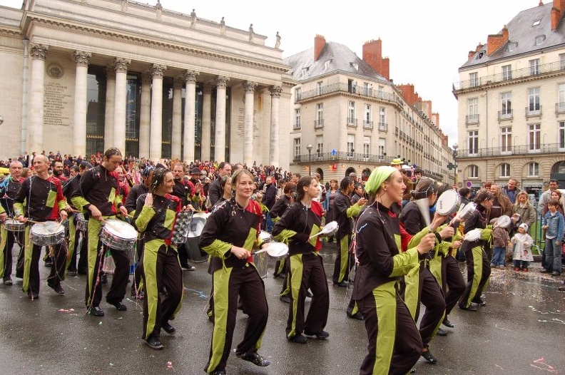
M 161 159 L 163 145 L 163 71 L 166 66 L 153 64 L 151 75 L 151 138 L 149 140 L 149 158 L 154 162 Z

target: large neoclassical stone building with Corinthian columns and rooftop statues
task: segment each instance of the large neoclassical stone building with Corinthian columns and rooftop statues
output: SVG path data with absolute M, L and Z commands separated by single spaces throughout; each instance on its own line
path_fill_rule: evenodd
M 61 151 L 289 168 L 289 66 L 253 27 L 160 2 L 0 6 L 0 158 Z

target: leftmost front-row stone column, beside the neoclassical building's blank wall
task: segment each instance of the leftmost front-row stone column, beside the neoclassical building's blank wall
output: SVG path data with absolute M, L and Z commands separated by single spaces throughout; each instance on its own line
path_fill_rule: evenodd
M 29 48 L 29 56 L 31 56 L 31 82 L 29 88 L 27 146 L 30 155 L 34 151 L 37 155 L 43 151 L 45 58 L 47 51 L 49 51 L 49 46 L 42 44 L 32 43 Z

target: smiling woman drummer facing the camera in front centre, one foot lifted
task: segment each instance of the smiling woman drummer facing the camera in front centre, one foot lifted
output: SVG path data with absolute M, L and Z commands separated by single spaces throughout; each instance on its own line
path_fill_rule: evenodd
M 232 181 L 234 197 L 215 207 L 200 235 L 200 247 L 212 255 L 214 280 L 214 332 L 205 371 L 216 375 L 225 374 L 238 312 L 238 296 L 249 318 L 245 336 L 235 354 L 257 366 L 270 364 L 257 353 L 267 327 L 269 309 L 265 285 L 253 267 L 251 255 L 253 245 L 258 242 L 262 212 L 258 202 L 250 200 L 255 189 L 253 174 L 239 169 Z M 263 243 L 259 245 L 263 246 Z

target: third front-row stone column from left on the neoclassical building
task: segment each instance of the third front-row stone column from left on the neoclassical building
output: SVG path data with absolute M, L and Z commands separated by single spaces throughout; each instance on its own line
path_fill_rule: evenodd
M 128 98 L 128 66 L 131 60 L 116 57 L 116 95 L 114 96 L 113 147 L 126 156 L 126 106 Z

